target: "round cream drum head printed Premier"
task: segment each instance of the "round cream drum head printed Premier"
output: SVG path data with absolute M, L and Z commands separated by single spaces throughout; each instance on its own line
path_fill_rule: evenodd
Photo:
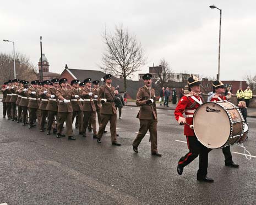
M 222 147 L 230 136 L 230 119 L 227 112 L 217 103 L 204 103 L 198 107 L 193 118 L 194 132 L 204 146 Z

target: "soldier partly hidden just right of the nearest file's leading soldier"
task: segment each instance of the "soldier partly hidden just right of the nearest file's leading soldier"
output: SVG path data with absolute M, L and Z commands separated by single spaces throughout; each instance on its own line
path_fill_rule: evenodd
M 72 123 L 74 122 L 74 118 L 76 117 L 78 122 L 79 134 L 83 134 L 83 124 L 81 122 L 82 99 L 81 89 L 79 88 L 79 79 L 73 79 L 70 84 L 73 87 L 72 89 L 70 89 L 70 92 L 72 94 L 71 105 L 73 108 Z

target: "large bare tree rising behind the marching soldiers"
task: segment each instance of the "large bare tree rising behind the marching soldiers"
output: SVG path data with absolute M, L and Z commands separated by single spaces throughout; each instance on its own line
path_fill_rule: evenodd
M 102 35 L 106 45 L 102 56 L 102 69 L 105 67 L 108 72 L 115 76 L 121 76 L 124 83 L 124 91 L 127 88 L 127 78 L 145 65 L 146 57 L 141 44 L 134 35 L 130 35 L 123 26 L 116 26 L 115 33 L 107 33 L 105 29 Z

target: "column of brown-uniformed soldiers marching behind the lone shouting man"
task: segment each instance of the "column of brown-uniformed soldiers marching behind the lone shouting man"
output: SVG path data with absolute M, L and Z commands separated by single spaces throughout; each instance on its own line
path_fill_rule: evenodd
M 112 145 L 120 146 L 116 133 L 116 108 L 114 103 L 115 88 L 111 86 L 111 75 L 106 75 L 105 85 L 99 88 L 100 81 L 86 78 L 84 82 L 74 79 L 70 85 L 66 78 L 39 82 L 10 79 L 2 86 L 3 117 L 22 122 L 28 128 L 39 128 L 47 135 L 56 134 L 57 138 L 73 134 L 74 118 L 79 134 L 86 137 L 87 129 L 93 131 L 93 138 L 101 143 L 102 134 L 108 121 L 111 124 Z M 92 84 L 94 88 L 92 88 Z M 96 116 L 99 134 L 96 129 Z M 63 124 L 66 122 L 66 135 Z

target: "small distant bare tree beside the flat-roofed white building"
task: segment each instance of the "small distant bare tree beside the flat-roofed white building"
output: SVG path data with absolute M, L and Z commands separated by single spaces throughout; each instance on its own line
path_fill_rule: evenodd
M 157 81 L 159 82 L 159 87 L 162 88 L 168 80 L 172 80 L 174 78 L 174 72 L 171 70 L 170 65 L 164 58 L 160 60 L 160 65 L 162 69 L 159 69 L 157 72 Z

